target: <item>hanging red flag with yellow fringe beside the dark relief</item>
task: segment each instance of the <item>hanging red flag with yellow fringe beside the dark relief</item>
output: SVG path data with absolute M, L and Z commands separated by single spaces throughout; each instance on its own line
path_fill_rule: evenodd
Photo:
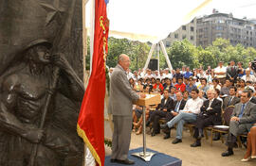
M 105 58 L 107 55 L 107 0 L 95 0 L 91 75 L 82 99 L 77 131 L 97 164 L 104 165 Z

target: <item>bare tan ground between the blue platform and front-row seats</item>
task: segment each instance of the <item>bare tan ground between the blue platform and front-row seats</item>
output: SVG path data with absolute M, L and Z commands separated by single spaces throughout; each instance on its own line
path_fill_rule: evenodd
M 175 158 L 182 159 L 183 166 L 256 166 L 256 159 L 247 163 L 240 160 L 246 153 L 245 148 L 234 149 L 234 155 L 228 158 L 221 157 L 221 153 L 224 152 L 227 147 L 221 141 L 213 141 L 213 145 L 210 146 L 210 140 L 203 139 L 202 146 L 192 148 L 192 138 L 188 131 L 183 132 L 183 142 L 173 144 L 175 130 L 172 132 L 171 139 L 163 140 L 163 134 L 158 134 L 155 137 L 147 135 L 147 147 L 173 156 Z M 142 135 L 136 135 L 132 133 L 132 141 L 130 149 L 134 149 L 142 146 Z M 106 147 L 106 155 L 111 154 L 111 149 Z

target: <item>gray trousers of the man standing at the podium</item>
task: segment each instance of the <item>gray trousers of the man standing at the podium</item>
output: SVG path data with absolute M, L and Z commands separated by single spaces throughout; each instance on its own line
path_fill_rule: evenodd
M 132 116 L 113 115 L 114 132 L 111 158 L 124 160 L 128 157 L 132 122 Z

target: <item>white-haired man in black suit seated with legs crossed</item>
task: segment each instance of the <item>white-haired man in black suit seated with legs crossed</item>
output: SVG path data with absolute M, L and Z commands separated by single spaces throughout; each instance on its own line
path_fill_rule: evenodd
M 196 139 L 192 147 L 201 146 L 203 129 L 208 125 L 221 125 L 221 101 L 215 98 L 216 91 L 207 91 L 208 100 L 204 101 L 201 112 L 197 116 L 193 137 Z

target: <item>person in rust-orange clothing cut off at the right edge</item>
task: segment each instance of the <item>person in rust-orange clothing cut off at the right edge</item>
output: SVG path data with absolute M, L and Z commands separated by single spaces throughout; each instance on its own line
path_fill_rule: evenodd
M 256 159 L 256 124 L 254 124 L 247 134 L 247 153 L 241 160 L 246 162 L 249 158 Z

